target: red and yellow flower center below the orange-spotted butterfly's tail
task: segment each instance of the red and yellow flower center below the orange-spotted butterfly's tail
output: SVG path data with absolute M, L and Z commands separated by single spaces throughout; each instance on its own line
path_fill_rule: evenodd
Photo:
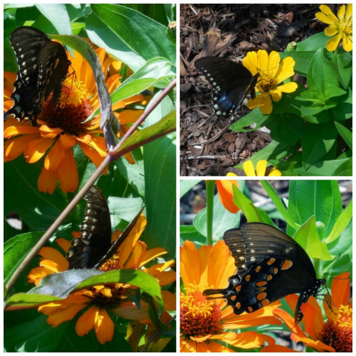
M 186 287 L 181 296 L 181 331 L 186 336 L 218 334 L 221 311 L 215 301 L 208 301 L 196 285 Z

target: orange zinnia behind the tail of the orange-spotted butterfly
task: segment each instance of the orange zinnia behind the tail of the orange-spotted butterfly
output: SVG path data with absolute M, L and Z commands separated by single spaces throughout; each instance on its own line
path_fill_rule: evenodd
M 253 331 L 236 333 L 226 330 L 251 328 L 261 324 L 279 324 L 273 310 L 274 302 L 253 313 L 235 315 L 226 301 L 207 300 L 202 294 L 207 288 L 224 288 L 228 278 L 236 272 L 234 259 L 223 241 L 213 246 L 195 245 L 186 241 L 181 248 L 181 352 L 231 352 L 228 346 L 261 347 L 270 338 Z

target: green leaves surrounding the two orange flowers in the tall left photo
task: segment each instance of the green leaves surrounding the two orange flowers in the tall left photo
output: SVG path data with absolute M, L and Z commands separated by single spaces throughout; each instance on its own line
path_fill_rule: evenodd
M 67 47 L 80 52 L 92 66 L 96 83 L 105 85 L 100 78 L 101 66 L 95 53 L 79 36 L 103 47 L 107 53 L 125 63 L 121 71 L 122 85 L 105 98 L 105 91 L 99 87 L 100 98 L 110 109 L 123 99 L 145 95 L 156 100 L 175 78 L 175 47 L 167 37 L 167 26 L 175 20 L 175 5 L 144 4 L 36 4 L 6 5 L 4 7 L 4 69 L 17 71 L 17 64 L 11 49 L 9 36 L 19 26 L 35 26 L 53 39 L 60 40 Z M 73 36 L 74 35 L 74 36 Z M 94 54 L 93 54 L 94 53 Z M 132 73 L 133 72 L 133 73 Z M 99 79 L 98 79 L 99 78 Z M 105 89 L 106 88 L 103 88 Z M 148 93 L 148 94 L 147 94 Z M 106 107 L 106 108 L 107 108 Z M 147 105 L 149 107 L 149 105 Z M 175 251 L 175 96 L 166 96 L 147 117 L 142 127 L 130 136 L 115 154 L 131 152 L 135 164 L 121 158 L 109 165 L 108 172 L 101 175 L 97 185 L 108 198 L 113 227 L 123 230 L 134 218 L 141 206 L 145 206 L 147 217 L 145 231 L 140 240 L 148 249 L 164 248 L 165 260 L 173 259 Z M 102 106 L 103 108 L 103 106 Z M 145 107 L 140 107 L 145 109 Z M 99 110 L 93 115 L 99 114 Z M 35 164 L 28 164 L 22 156 L 7 162 L 4 166 L 4 213 L 16 212 L 22 221 L 22 229 L 5 228 L 4 280 L 8 282 L 29 251 L 38 242 L 54 220 L 61 214 L 79 189 L 96 171 L 95 165 L 83 154 L 78 145 L 73 147 L 74 159 L 79 175 L 78 190 L 65 194 L 58 186 L 53 194 L 38 190 L 37 181 L 44 165 L 44 157 Z M 82 221 L 84 202 L 81 201 L 65 222 L 57 229 L 50 246 L 65 255 L 56 238 L 72 239 L 72 231 L 78 231 Z M 159 258 L 155 263 L 162 262 Z M 98 343 L 94 331 L 79 337 L 75 331 L 77 315 L 72 320 L 53 328 L 47 323 L 47 316 L 31 313 L 24 308 L 35 308 L 41 303 L 62 300 L 76 288 L 114 282 L 130 283 L 137 286 L 133 302 L 140 307 L 141 300 L 149 303 L 150 313 L 160 316 L 163 310 L 162 288 L 156 278 L 142 271 L 122 270 L 101 273 L 96 270 L 65 271 L 45 277 L 40 286 L 34 287 L 26 280 L 32 268 L 39 265 L 36 258 L 27 266 L 22 277 L 12 290 L 8 291 L 5 349 L 10 352 L 131 352 L 127 340 L 129 321 L 111 315 L 115 325 L 114 337 L 105 345 Z M 150 265 L 146 265 L 150 267 Z M 114 272 L 114 273 L 112 273 Z M 33 288 L 31 290 L 31 288 Z M 174 285 L 164 289 L 175 292 Z M 19 293 L 21 292 L 21 293 Z M 153 309 L 155 309 L 155 314 Z M 17 317 L 14 318 L 16 313 Z M 172 314 L 173 316 L 174 314 Z M 157 325 L 157 319 L 153 321 Z M 174 323 L 161 329 L 160 337 L 173 337 L 163 351 L 175 351 Z M 54 341 L 55 340 L 55 341 Z M 145 344 L 144 334 L 139 341 Z

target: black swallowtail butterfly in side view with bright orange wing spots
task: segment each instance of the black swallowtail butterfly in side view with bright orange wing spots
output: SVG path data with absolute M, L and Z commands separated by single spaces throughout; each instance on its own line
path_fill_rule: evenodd
M 236 274 L 223 289 L 205 289 L 209 299 L 225 299 L 235 314 L 251 313 L 284 296 L 300 293 L 294 321 L 303 318 L 301 306 L 325 284 L 303 248 L 282 231 L 263 223 L 247 223 L 225 231 L 224 241 L 235 259 Z

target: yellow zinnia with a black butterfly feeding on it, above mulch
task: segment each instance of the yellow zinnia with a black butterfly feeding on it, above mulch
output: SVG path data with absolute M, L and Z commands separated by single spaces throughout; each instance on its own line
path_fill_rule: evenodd
M 272 99 L 276 102 L 280 101 L 282 93 L 292 93 L 298 87 L 294 82 L 278 85 L 294 75 L 295 62 L 292 57 L 286 57 L 281 62 L 279 53 L 272 51 L 268 55 L 265 50 L 260 49 L 257 53 L 248 52 L 242 62 L 252 75 L 259 73 L 255 90 L 260 92 L 261 95 L 247 102 L 249 109 L 259 106 L 263 114 L 270 114 L 272 112 Z

